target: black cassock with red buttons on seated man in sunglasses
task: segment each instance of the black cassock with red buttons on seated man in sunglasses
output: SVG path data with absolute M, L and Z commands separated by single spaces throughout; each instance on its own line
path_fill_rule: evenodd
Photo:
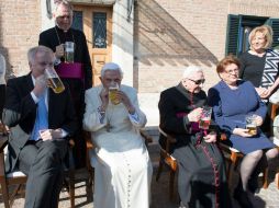
M 176 137 L 171 147 L 179 165 L 178 192 L 192 208 L 230 208 L 225 163 L 216 143 L 204 142 L 203 132 L 193 130 L 187 115 L 207 104 L 207 94 L 190 93 L 180 84 L 160 94 L 160 128 Z M 183 116 L 181 116 L 183 115 Z M 165 138 L 160 136 L 164 147 Z

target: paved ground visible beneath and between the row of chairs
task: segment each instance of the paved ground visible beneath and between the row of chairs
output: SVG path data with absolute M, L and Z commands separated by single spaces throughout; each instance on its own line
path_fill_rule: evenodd
M 150 135 L 155 135 L 155 141 L 153 145 L 149 146 L 149 154 L 153 161 L 154 165 L 154 176 L 153 176 L 153 183 L 152 183 L 152 205 L 150 208 L 178 208 L 178 195 L 176 193 L 176 199 L 175 201 L 168 200 L 168 171 L 165 169 L 163 172 L 159 182 L 155 181 L 155 174 L 157 173 L 157 166 L 158 166 L 158 155 L 159 155 L 159 147 L 157 145 L 157 136 L 156 131 L 150 130 Z M 279 164 L 279 160 L 275 161 L 274 166 L 276 164 Z M 271 167 L 275 170 L 275 167 Z M 254 196 L 252 198 L 255 208 L 279 208 L 279 189 L 275 186 L 274 181 L 274 173 L 275 171 L 271 171 L 270 174 L 270 185 L 267 189 L 261 188 L 259 194 Z M 234 175 L 234 178 L 236 178 L 236 175 Z M 235 184 L 235 183 L 234 183 Z M 177 188 L 175 188 L 177 189 Z M 76 184 L 76 197 L 75 197 L 75 204 L 76 207 L 83 207 L 83 208 L 93 208 L 92 200 L 87 200 L 87 193 L 86 193 L 86 186 L 85 182 L 80 182 Z M 234 203 L 234 208 L 239 208 L 236 201 Z M 22 208 L 24 204 L 24 198 L 19 196 L 13 207 L 14 208 Z M 3 207 L 2 200 L 0 199 L 0 208 Z M 70 207 L 68 193 L 66 189 L 64 189 L 60 194 L 60 201 L 59 201 L 60 208 L 68 208 Z

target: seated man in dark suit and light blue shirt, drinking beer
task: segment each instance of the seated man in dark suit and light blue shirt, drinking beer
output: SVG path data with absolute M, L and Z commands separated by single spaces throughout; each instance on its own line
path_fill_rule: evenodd
M 68 88 L 54 93 L 44 71 L 52 68 L 53 51 L 45 46 L 29 50 L 31 73 L 7 84 L 3 123 L 9 126 L 7 170 L 27 175 L 25 207 L 55 208 L 63 182 L 67 137 L 76 130 Z

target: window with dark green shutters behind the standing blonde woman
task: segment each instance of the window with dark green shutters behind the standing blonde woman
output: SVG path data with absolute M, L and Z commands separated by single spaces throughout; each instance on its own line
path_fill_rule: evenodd
M 227 34 L 225 54 L 238 56 L 248 50 L 248 36 L 250 31 L 259 25 L 268 24 L 274 30 L 272 47 L 279 45 L 279 19 L 269 19 L 265 16 L 233 15 L 227 18 Z

